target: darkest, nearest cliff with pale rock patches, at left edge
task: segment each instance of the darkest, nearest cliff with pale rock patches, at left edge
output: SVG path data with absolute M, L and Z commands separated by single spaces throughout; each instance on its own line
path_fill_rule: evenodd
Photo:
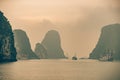
M 11 25 L 0 11 L 0 62 L 16 61 L 16 54 Z

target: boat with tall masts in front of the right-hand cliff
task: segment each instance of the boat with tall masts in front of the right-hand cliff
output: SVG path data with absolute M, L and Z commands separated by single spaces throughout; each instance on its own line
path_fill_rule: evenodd
M 99 61 L 113 61 L 113 51 L 108 50 L 99 58 Z

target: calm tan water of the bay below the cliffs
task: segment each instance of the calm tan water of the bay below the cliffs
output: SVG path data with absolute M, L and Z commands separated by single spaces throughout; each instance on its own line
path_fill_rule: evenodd
M 112 80 L 116 64 L 119 62 L 23 60 L 0 64 L 0 80 Z

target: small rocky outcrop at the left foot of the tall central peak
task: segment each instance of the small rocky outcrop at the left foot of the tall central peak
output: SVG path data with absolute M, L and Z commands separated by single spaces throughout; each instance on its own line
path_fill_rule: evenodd
M 36 44 L 35 53 L 40 59 L 47 59 L 47 50 L 42 44 Z

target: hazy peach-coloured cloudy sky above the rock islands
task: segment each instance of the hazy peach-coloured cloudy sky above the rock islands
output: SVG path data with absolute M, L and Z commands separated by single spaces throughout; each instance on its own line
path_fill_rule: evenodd
M 0 0 L 13 29 L 27 32 L 32 49 L 48 30 L 61 36 L 65 53 L 88 56 L 103 26 L 120 22 L 120 0 Z

